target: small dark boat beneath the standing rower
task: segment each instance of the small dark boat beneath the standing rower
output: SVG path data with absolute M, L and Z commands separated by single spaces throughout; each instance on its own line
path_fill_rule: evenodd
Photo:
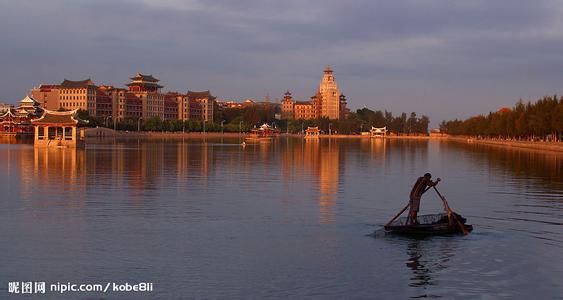
M 385 225 L 384 230 L 386 234 L 401 235 L 464 234 L 473 230 L 473 226 L 465 224 L 467 220 L 456 213 L 450 218 L 447 213 L 422 215 L 417 217 L 417 221 L 418 224 L 410 224 L 407 217 L 398 218 Z

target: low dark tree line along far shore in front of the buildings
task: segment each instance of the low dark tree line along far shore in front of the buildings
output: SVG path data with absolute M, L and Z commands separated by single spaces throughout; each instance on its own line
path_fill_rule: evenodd
M 373 111 L 368 108 L 358 109 L 349 113 L 341 120 L 330 120 L 326 117 L 316 120 L 279 120 L 276 118 L 276 110 L 273 105 L 252 105 L 243 108 L 225 108 L 219 110 L 214 122 L 202 122 L 195 120 L 162 120 L 158 117 L 148 118 L 139 122 L 133 118 L 126 118 L 115 124 L 111 119 L 95 118 L 88 115 L 87 111 L 80 111 L 82 119 L 89 120 L 92 126 L 104 126 L 118 130 L 146 130 L 146 131 L 224 131 L 224 132 L 246 132 L 250 129 L 269 124 L 281 132 L 298 133 L 307 127 L 318 126 L 324 132 L 343 134 L 355 134 L 360 131 L 369 131 L 374 127 L 387 127 L 387 130 L 396 134 L 427 134 L 430 122 L 427 116 L 417 117 L 416 113 L 407 115 L 402 113 L 393 116 L 388 111 Z

